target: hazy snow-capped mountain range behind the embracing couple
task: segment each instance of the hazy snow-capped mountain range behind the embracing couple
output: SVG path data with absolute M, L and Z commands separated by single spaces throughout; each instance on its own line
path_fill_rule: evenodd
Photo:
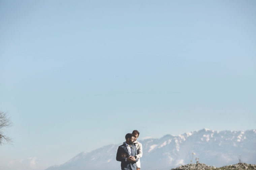
M 142 144 L 141 168 L 168 170 L 182 164 L 200 163 L 221 167 L 242 162 L 256 164 L 256 130 L 214 131 L 202 129 L 182 135 L 165 135 L 159 139 L 138 140 Z M 82 152 L 68 162 L 46 170 L 121 169 L 116 161 L 118 146 L 108 145 L 90 153 Z

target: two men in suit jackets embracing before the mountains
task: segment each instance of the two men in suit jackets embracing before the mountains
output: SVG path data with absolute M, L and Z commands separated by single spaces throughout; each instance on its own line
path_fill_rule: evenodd
M 122 170 L 140 170 L 139 158 L 142 157 L 142 145 L 137 142 L 138 130 L 125 135 L 126 141 L 118 147 L 117 161 L 121 162 Z

